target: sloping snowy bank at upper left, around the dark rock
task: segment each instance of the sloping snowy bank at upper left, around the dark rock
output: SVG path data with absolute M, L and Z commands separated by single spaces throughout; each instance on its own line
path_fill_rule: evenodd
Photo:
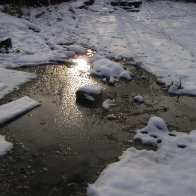
M 0 53 L 0 67 L 39 65 L 67 57 L 67 49 L 49 38 L 48 29 L 42 28 L 41 23 L 37 25 L 0 12 L 0 26 L 0 40 L 9 37 L 13 45 L 10 53 Z

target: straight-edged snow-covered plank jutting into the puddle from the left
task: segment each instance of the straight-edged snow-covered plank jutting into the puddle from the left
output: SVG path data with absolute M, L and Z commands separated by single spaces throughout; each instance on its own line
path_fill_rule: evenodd
M 33 109 L 34 107 L 40 105 L 33 99 L 25 96 L 16 101 L 12 101 L 5 105 L 0 106 L 0 124 L 10 121 L 25 112 Z

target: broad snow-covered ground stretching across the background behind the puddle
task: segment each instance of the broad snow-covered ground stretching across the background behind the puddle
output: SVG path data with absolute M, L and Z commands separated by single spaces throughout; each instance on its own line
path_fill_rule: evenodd
M 83 50 L 66 47 L 74 43 L 105 57 L 134 58 L 168 84 L 181 78 L 184 89 L 171 92 L 196 95 L 196 4 L 144 1 L 137 13 L 114 8 L 109 0 L 88 9 L 79 9 L 81 2 L 24 8 L 22 18 L 0 12 L 0 39 L 13 41 L 13 52 L 0 53 L 0 67 L 64 61 Z M 3 89 L 9 84 L 0 78 Z

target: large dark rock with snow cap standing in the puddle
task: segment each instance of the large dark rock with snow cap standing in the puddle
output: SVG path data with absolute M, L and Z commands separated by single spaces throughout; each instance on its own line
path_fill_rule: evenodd
M 76 102 L 85 105 L 96 105 L 102 101 L 102 88 L 85 85 L 76 91 Z

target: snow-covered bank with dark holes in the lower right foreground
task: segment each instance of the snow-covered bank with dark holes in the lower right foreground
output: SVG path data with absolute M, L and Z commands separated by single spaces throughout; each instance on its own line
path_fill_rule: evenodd
M 89 185 L 88 196 L 196 195 L 196 131 L 169 131 L 163 119 L 152 117 L 136 138 L 158 150 L 127 149 Z

